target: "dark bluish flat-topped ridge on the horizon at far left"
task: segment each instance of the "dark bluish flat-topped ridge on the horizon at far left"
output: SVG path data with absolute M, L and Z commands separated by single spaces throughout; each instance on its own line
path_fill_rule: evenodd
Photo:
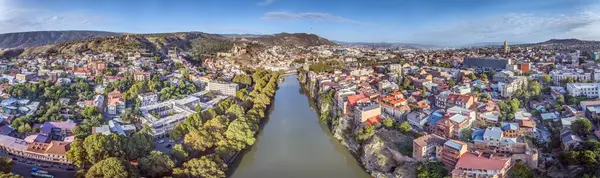
M 104 31 L 34 31 L 0 34 L 0 49 L 28 48 L 96 37 L 118 36 Z

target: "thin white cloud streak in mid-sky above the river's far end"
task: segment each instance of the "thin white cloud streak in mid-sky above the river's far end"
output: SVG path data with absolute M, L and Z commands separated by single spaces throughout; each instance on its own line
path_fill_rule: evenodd
M 263 16 L 264 20 L 272 21 L 289 21 L 289 20 L 303 20 L 303 21 L 330 21 L 330 22 L 343 22 L 343 23 L 355 23 L 364 24 L 362 22 L 335 16 L 328 13 L 321 12 L 304 12 L 304 13 L 292 13 L 292 12 L 267 12 Z

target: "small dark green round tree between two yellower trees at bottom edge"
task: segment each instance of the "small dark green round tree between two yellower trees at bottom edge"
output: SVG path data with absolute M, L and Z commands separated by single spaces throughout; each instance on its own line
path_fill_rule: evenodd
M 159 151 L 152 151 L 150 155 L 140 159 L 138 167 L 142 176 L 160 177 L 170 172 L 175 167 L 175 163 L 169 156 Z

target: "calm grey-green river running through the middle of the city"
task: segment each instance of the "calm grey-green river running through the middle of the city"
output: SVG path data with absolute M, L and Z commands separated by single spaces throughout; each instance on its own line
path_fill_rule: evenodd
M 370 177 L 320 123 L 295 75 L 279 85 L 269 120 L 236 166 L 233 178 Z

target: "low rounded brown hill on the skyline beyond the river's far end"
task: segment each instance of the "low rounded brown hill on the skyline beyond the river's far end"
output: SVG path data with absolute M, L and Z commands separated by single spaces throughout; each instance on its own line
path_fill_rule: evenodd
M 247 38 L 236 38 L 236 41 L 255 41 L 266 46 L 321 46 L 337 45 L 325 38 L 307 33 L 279 33 L 275 35 L 261 35 Z

